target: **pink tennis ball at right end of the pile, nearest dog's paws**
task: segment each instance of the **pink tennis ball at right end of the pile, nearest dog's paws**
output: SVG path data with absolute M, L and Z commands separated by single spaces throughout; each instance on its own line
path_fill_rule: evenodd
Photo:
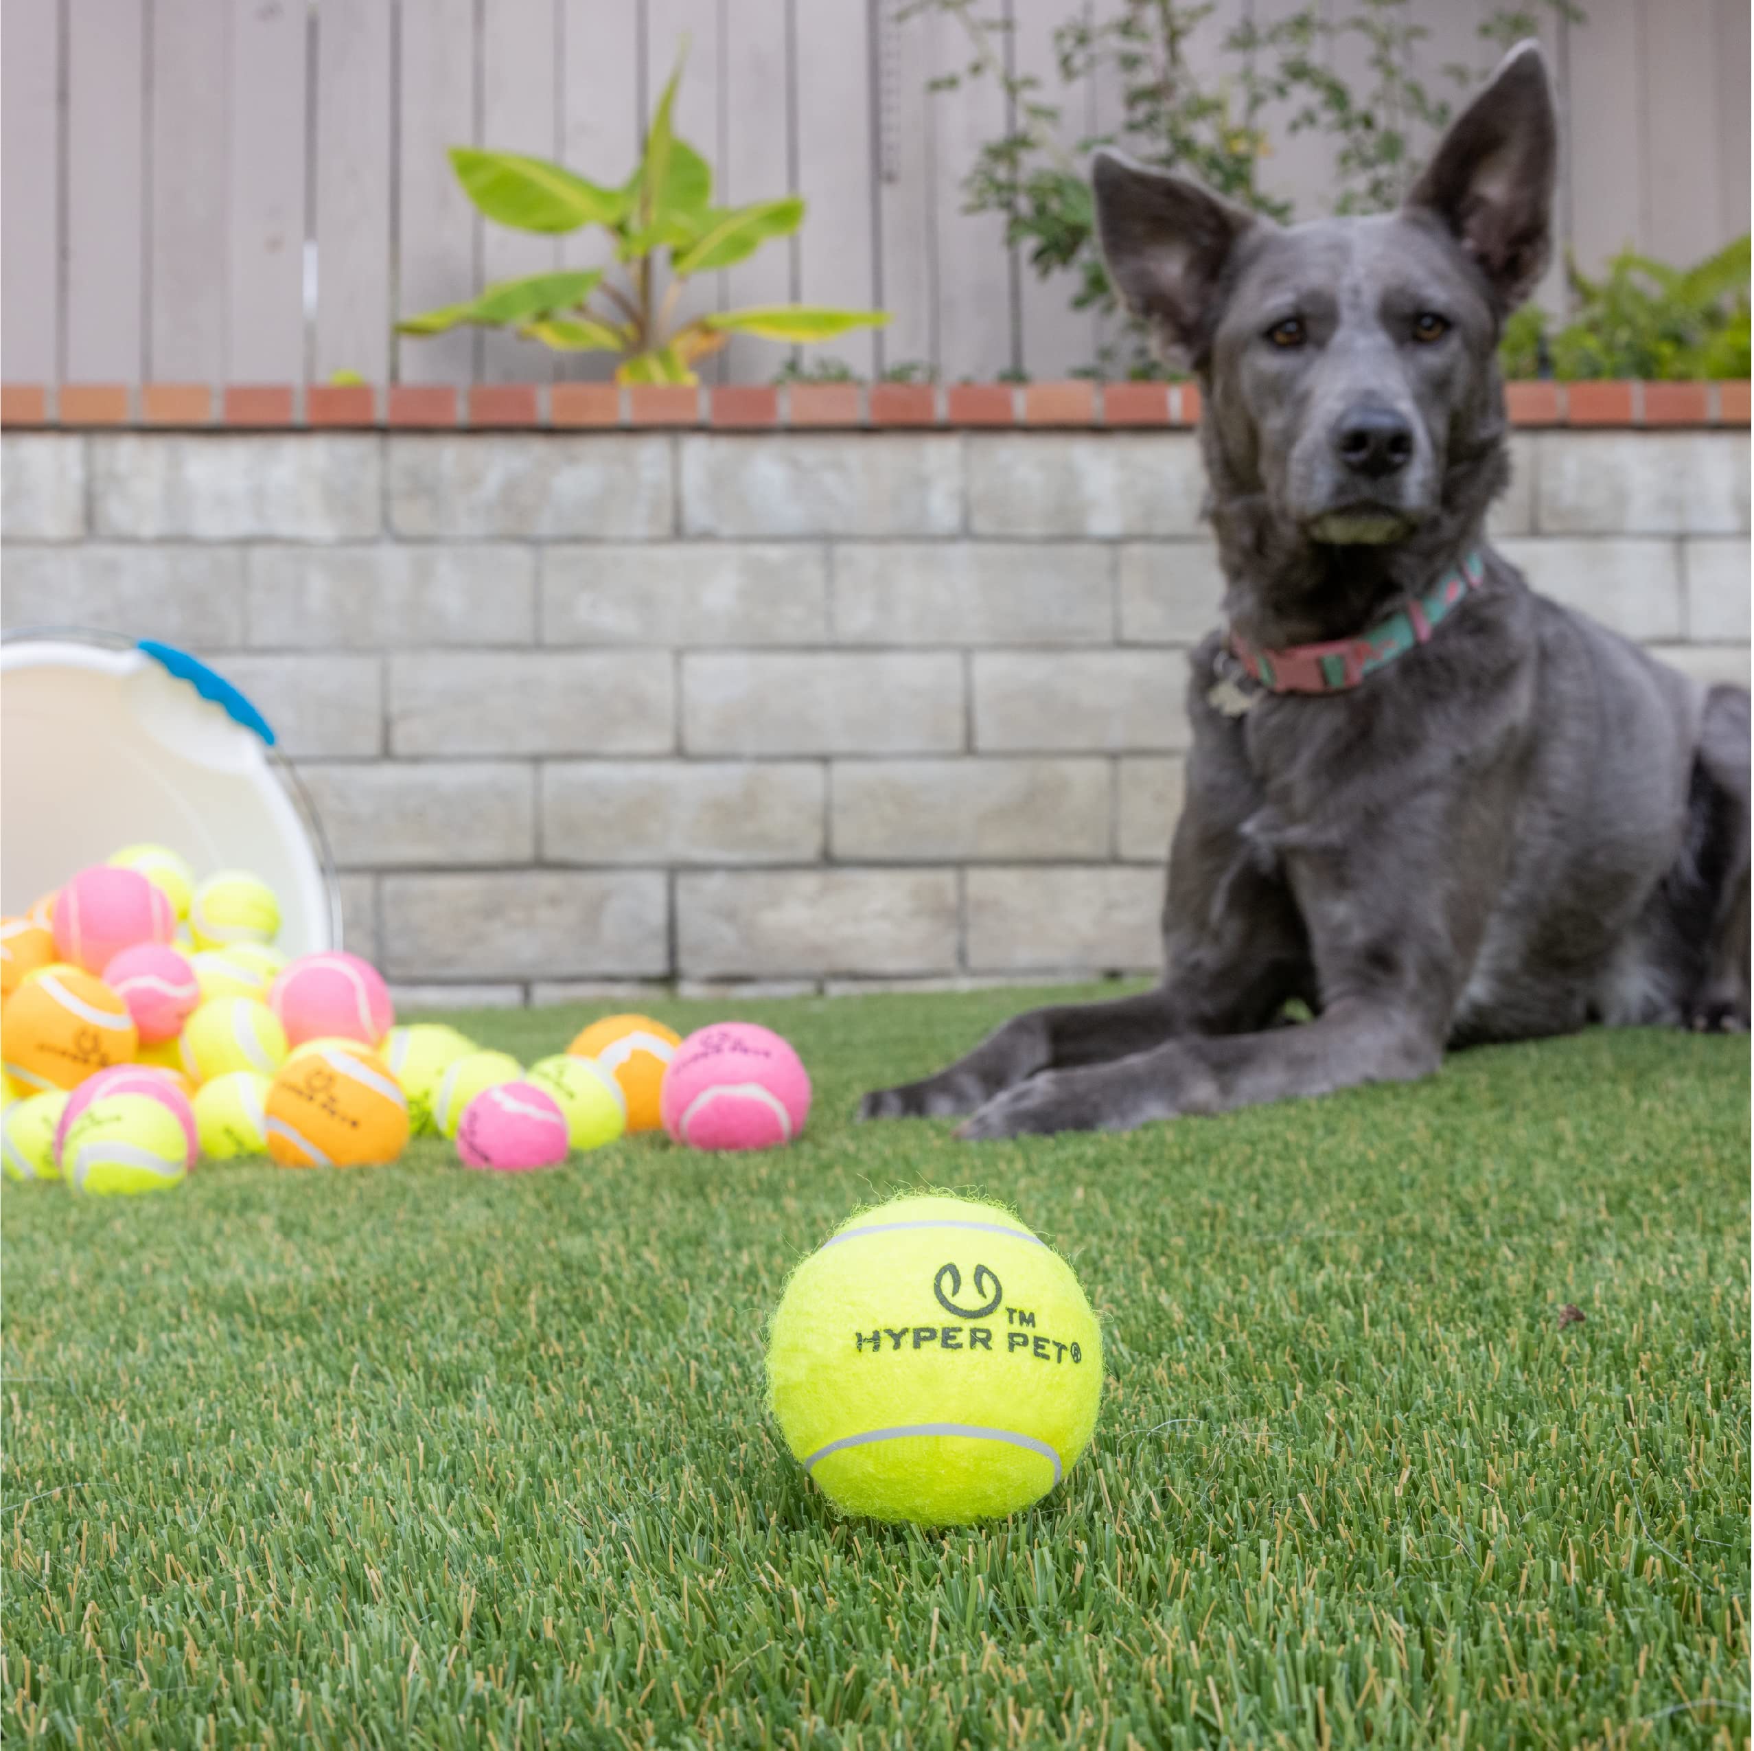
M 772 1028 L 717 1021 L 675 1049 L 658 1095 L 663 1128 L 695 1149 L 772 1149 L 810 1116 L 810 1077 Z

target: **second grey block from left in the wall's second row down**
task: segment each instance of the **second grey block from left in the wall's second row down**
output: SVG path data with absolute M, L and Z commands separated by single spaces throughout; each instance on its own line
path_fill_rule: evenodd
M 531 644 L 528 547 L 253 547 L 249 642 L 279 649 Z

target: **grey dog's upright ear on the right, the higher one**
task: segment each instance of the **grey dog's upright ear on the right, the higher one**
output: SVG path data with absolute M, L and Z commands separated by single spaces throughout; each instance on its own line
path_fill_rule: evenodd
M 1547 268 L 1558 156 L 1547 60 L 1529 39 L 1498 63 L 1407 197 L 1408 207 L 1435 212 L 1479 261 L 1500 312 L 1515 309 Z

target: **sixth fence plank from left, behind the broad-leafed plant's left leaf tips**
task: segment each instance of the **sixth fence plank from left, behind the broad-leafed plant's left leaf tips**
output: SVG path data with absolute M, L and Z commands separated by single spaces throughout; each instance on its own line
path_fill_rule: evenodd
M 447 156 L 475 142 L 475 0 L 402 7 L 396 67 L 396 316 L 461 304 L 475 291 L 475 209 Z M 475 337 L 396 335 L 400 382 L 468 382 Z

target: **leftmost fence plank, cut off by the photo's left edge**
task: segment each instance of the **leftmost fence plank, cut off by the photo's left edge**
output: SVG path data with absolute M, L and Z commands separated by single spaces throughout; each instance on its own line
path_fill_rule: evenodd
M 0 14 L 0 375 L 60 375 L 60 7 Z

